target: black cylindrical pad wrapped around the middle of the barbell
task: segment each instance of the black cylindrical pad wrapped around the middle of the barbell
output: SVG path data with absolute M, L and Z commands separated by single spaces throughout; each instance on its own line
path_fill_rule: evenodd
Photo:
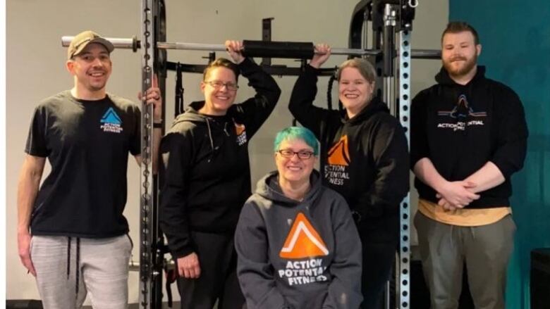
M 311 42 L 243 41 L 243 55 L 247 57 L 311 59 Z

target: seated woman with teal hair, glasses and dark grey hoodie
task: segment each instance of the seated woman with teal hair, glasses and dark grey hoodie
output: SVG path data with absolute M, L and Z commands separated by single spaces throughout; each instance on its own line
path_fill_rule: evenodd
M 346 201 L 313 169 L 317 139 L 288 127 L 274 151 L 277 170 L 258 182 L 235 234 L 247 309 L 357 309 L 360 239 Z

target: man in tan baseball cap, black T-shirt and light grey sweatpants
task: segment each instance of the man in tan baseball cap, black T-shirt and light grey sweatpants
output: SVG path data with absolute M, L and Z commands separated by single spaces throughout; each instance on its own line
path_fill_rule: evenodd
M 126 204 L 128 153 L 140 157 L 140 109 L 106 92 L 114 46 L 92 31 L 68 47 L 70 90 L 44 99 L 32 117 L 18 184 L 20 260 L 36 277 L 44 308 L 126 308 L 132 243 Z M 147 90 L 161 121 L 156 79 Z M 155 126 L 157 127 L 157 126 Z M 160 141 L 154 130 L 154 141 Z M 158 143 L 153 149 L 157 166 Z M 46 159 L 51 172 L 39 186 Z

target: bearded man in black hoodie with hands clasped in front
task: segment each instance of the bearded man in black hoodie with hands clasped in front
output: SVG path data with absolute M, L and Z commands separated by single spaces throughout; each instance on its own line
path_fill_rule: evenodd
M 523 167 L 527 125 L 518 95 L 484 77 L 467 23 L 441 38 L 443 68 L 411 108 L 415 216 L 432 308 L 458 308 L 463 265 L 476 308 L 504 308 L 513 250 L 511 175 Z

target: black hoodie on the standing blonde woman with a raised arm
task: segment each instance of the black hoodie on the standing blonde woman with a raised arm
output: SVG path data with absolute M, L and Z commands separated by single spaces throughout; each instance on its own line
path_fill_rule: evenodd
M 313 106 L 318 71 L 306 66 L 288 108 L 321 142 L 324 184 L 346 198 L 362 240 L 394 243 L 399 204 L 409 189 L 403 127 L 377 98 L 351 119 Z

